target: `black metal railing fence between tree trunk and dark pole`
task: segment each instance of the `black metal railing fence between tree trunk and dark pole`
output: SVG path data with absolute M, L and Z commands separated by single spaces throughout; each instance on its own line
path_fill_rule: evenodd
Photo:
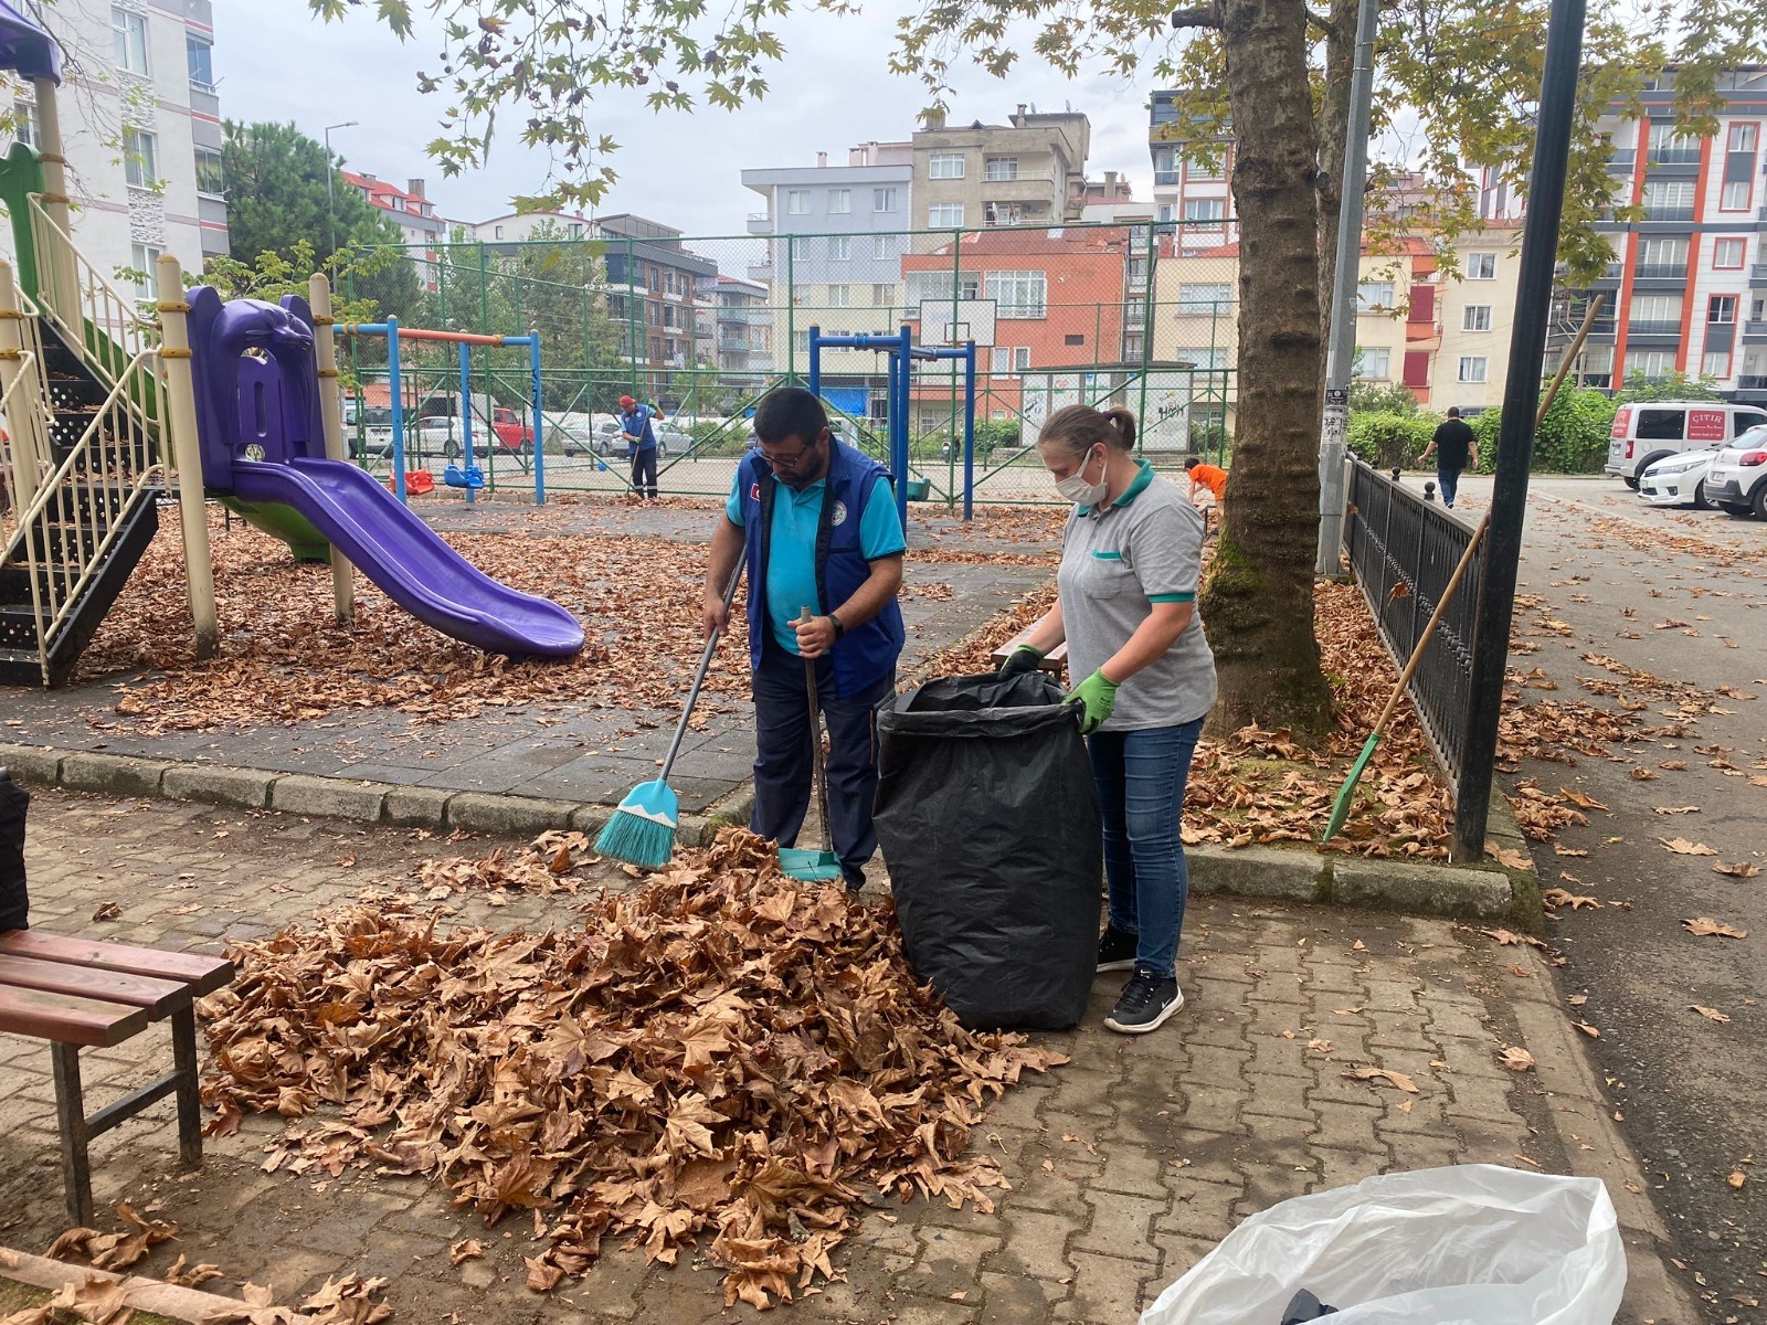
M 1474 526 L 1362 461 L 1352 461 L 1345 551 L 1350 569 L 1399 666 L 1442 601 Z M 1454 599 L 1424 648 L 1410 698 L 1437 761 L 1458 786 L 1467 753 L 1467 696 L 1472 631 L 1479 602 L 1479 560 L 1467 567 Z

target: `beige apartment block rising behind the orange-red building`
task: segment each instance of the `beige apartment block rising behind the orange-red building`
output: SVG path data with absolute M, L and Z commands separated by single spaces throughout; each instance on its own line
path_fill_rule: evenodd
M 1092 124 L 1020 106 L 1007 124 L 940 122 L 914 136 L 915 226 L 1060 226 L 1087 205 Z

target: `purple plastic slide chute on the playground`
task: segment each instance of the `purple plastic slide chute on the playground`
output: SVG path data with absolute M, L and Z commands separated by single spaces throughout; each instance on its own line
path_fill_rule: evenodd
M 488 654 L 573 657 L 583 627 L 557 602 L 479 571 L 355 465 L 233 461 L 233 495 L 292 505 L 417 620 Z

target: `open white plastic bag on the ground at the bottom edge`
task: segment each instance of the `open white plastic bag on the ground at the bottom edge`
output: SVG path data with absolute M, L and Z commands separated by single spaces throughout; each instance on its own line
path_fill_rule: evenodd
M 1279 1325 L 1302 1288 L 1331 1325 L 1612 1325 L 1626 1249 L 1597 1178 L 1389 1173 L 1255 1214 L 1141 1325 Z

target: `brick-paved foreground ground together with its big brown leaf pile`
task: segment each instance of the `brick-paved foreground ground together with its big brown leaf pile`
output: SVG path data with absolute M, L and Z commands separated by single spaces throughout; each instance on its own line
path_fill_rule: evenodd
M 740 1320 L 744 1290 L 788 1290 L 795 1316 L 853 1325 L 1115 1325 L 1286 1196 L 1387 1170 L 1597 1157 L 1599 1104 L 1571 1071 L 1581 1049 L 1523 1032 L 1562 1019 L 1525 945 L 1198 899 L 1189 1003 L 1161 1034 L 1104 1032 L 1120 984 L 1104 977 L 1078 1030 L 963 1048 L 891 965 L 887 897 L 786 892 L 728 850 L 723 882 L 641 883 L 569 837 L 42 791 L 28 844 L 42 928 L 233 943 L 246 963 L 205 1009 L 219 1049 L 205 1168 L 177 1171 L 170 1102 L 101 1138 L 95 1196 L 134 1223 L 106 1214 L 62 1254 L 152 1277 L 212 1267 L 205 1288 L 244 1298 L 253 1321 L 313 1300 L 359 1313 L 330 1320 Z M 691 942 L 701 912 L 732 906 L 753 940 Z M 777 926 L 806 931 L 800 952 L 781 950 Z M 433 959 L 401 959 L 419 947 Z M 673 1003 L 671 963 L 696 972 Z M 730 995 L 770 979 L 785 989 L 751 1026 L 758 1011 Z M 654 1019 L 597 1019 L 622 984 Z M 853 1016 L 822 1023 L 823 1055 L 882 1053 L 878 1074 L 793 1058 L 816 1025 L 793 1028 L 793 1007 Z M 905 1051 L 935 1069 L 892 1086 Z M 166 1056 L 152 1032 L 88 1051 L 94 1095 Z M 65 1231 L 48 1055 L 0 1037 L 0 1064 L 18 1083 L 0 1102 L 14 1175 L 0 1244 L 41 1253 Z M 588 1092 L 578 1122 L 599 1125 L 553 1134 L 571 1118 L 548 1101 L 573 1092 Z M 640 1099 L 654 1108 L 626 1108 Z M 1573 1104 L 1580 1140 L 1564 1131 Z M 786 1180 L 793 1161 L 806 1168 Z

